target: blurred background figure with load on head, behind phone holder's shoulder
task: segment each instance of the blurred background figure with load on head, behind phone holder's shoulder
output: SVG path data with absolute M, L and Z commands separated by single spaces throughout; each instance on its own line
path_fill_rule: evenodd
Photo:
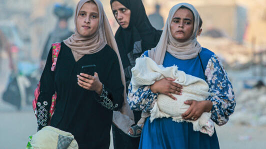
M 73 14 L 73 10 L 64 4 L 56 3 L 54 5 L 53 13 L 58 18 L 55 28 L 50 32 L 46 43 L 44 44 L 44 49 L 41 54 L 42 64 L 45 64 L 45 60 L 48 56 L 49 49 L 52 43 L 62 42 L 64 39 L 70 37 L 74 32 L 69 30 L 67 20 Z

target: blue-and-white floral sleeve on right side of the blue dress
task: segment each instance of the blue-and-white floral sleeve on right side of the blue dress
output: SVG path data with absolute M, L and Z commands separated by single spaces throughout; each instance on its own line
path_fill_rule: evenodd
M 209 59 L 205 76 L 211 93 L 206 100 L 212 102 L 211 119 L 221 126 L 227 123 L 235 107 L 232 84 L 216 55 Z

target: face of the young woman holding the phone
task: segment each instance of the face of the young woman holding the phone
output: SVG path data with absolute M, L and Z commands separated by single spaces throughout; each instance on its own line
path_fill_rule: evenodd
M 80 8 L 76 19 L 77 32 L 83 37 L 94 34 L 99 24 L 98 7 L 93 2 L 86 2 Z

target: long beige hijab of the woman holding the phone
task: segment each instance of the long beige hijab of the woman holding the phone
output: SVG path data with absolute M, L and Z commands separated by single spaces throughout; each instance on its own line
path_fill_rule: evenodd
M 77 3 L 74 15 L 75 26 L 80 8 L 85 2 L 88 1 L 91 0 L 80 0 Z M 127 133 L 129 127 L 134 124 L 134 117 L 133 112 L 130 110 L 130 107 L 126 100 L 127 96 L 125 92 L 125 78 L 123 66 L 121 63 L 120 55 L 113 33 L 111 31 L 110 24 L 103 10 L 103 6 L 99 0 L 93 1 L 96 3 L 99 11 L 98 30 L 90 37 L 81 37 L 75 28 L 75 33 L 63 42 L 72 50 L 76 61 L 85 54 L 93 54 L 100 51 L 106 44 L 108 44 L 115 51 L 119 60 L 121 80 L 124 86 L 124 102 L 122 108 L 119 111 L 113 112 L 113 123 L 123 132 Z

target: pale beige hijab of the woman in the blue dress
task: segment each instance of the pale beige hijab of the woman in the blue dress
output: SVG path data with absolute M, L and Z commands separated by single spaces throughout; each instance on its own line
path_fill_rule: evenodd
M 194 15 L 194 29 L 192 35 L 185 42 L 176 41 L 170 31 L 170 24 L 174 13 L 181 7 L 188 7 Z M 163 28 L 160 40 L 157 46 L 148 51 L 148 56 L 152 58 L 157 64 L 161 65 L 164 59 L 165 51 L 178 59 L 192 59 L 201 51 L 200 44 L 196 41 L 196 34 L 199 25 L 199 14 L 193 5 L 189 3 L 178 3 L 174 5 L 170 11 Z

